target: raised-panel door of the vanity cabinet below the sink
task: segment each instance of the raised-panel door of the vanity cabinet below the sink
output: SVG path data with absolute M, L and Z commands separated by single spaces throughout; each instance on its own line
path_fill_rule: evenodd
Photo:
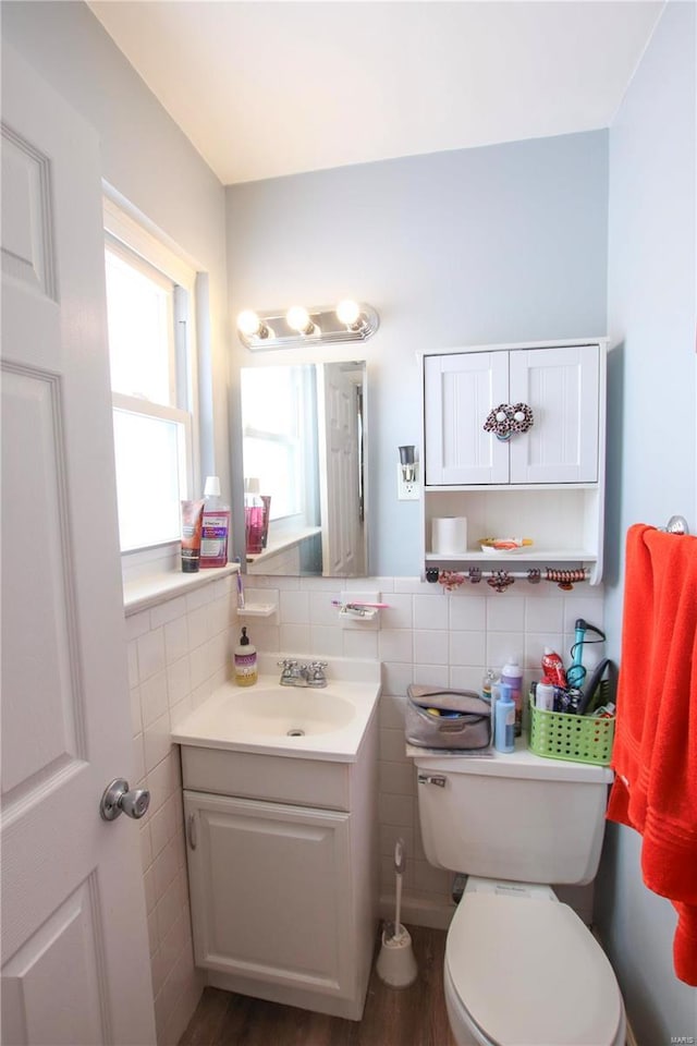
M 355 990 L 351 815 L 184 792 L 196 964 Z

